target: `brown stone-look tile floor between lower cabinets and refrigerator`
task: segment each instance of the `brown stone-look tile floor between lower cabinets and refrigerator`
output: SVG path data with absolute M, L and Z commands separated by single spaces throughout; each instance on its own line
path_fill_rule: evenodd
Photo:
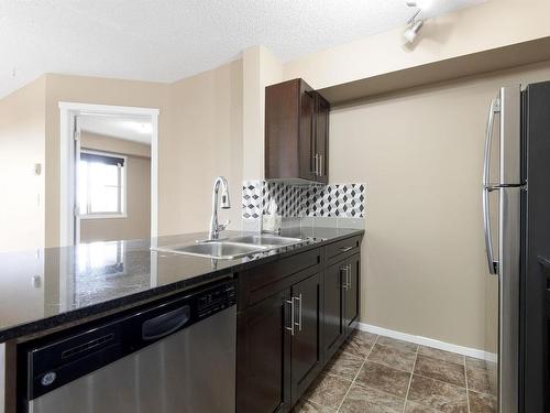
M 295 413 L 492 413 L 494 366 L 356 332 L 311 384 Z

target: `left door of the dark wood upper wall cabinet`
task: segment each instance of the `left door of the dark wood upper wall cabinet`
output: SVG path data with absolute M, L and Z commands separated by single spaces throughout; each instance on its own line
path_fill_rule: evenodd
M 315 95 L 300 83 L 300 116 L 299 116 L 299 134 L 298 134 L 298 156 L 299 172 L 304 180 L 315 181 L 316 164 L 315 157 Z

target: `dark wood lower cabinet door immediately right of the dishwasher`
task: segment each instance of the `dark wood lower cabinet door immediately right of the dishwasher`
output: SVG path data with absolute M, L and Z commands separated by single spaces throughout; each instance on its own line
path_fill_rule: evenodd
M 290 333 L 285 290 L 238 315 L 237 411 L 290 409 Z

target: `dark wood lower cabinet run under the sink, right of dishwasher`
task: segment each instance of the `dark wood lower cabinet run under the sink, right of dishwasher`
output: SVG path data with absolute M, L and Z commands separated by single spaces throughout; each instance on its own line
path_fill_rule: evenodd
M 242 274 L 237 412 L 289 412 L 355 328 L 361 291 L 359 243 L 354 250 L 343 250 L 328 268 L 323 268 L 322 250 L 310 250 L 299 254 L 304 260 L 293 256 L 277 267 L 271 263 Z M 293 265 L 285 262 L 299 270 L 292 273 Z M 275 268 L 283 269 L 278 279 Z M 262 275 L 272 282 L 253 282 Z

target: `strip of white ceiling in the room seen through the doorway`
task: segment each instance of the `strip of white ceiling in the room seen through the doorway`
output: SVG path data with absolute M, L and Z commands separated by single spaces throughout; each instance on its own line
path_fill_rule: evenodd
M 91 133 L 151 144 L 151 121 L 128 117 L 85 115 L 78 117 L 80 129 Z

